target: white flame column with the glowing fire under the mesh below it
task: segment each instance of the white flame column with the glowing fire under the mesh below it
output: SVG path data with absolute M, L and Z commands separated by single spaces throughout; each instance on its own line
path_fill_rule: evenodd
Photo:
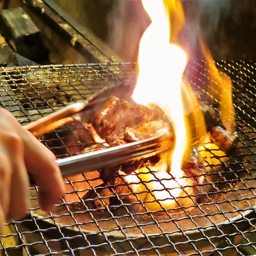
M 166 4 L 168 3 L 168 4 Z M 133 186 L 136 191 L 150 190 L 144 200 L 157 200 L 147 203 L 148 209 L 171 208 L 177 206 L 175 199 L 182 191 L 181 187 L 186 180 L 183 177 L 182 159 L 186 147 L 189 146 L 184 120 L 182 103 L 182 74 L 186 67 L 186 54 L 177 45 L 170 43 L 170 8 L 177 1 L 143 1 L 143 6 L 152 23 L 143 34 L 139 47 L 138 66 L 139 74 L 134 90 L 133 99 L 138 104 L 156 104 L 163 109 L 173 124 L 175 130 L 175 149 L 165 164 L 171 166 L 156 166 L 158 172 L 154 175 L 145 170 L 138 170 L 138 179 L 147 182 Z M 152 64 L 154 63 L 154 65 Z M 156 70 L 157 68 L 157 70 Z M 170 178 L 167 173 L 171 170 Z M 128 182 L 136 182 L 136 175 L 126 177 Z M 161 180 L 161 182 L 159 182 Z M 175 189 L 173 189 L 175 188 Z

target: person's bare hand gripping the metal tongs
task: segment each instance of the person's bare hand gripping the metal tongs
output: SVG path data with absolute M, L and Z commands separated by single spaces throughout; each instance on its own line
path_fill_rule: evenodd
M 29 209 L 29 173 L 39 188 L 42 209 L 51 211 L 64 194 L 54 154 L 0 108 L 0 233 L 1 224 L 22 218 Z

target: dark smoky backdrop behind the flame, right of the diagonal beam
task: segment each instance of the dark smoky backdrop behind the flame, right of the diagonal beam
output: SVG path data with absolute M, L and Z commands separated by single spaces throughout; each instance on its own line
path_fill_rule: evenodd
M 54 0 L 88 26 L 125 61 L 133 61 L 149 24 L 137 0 Z M 255 0 L 183 0 L 186 44 L 194 47 L 198 26 L 215 60 L 256 60 Z M 189 42 L 188 42 L 189 41 Z

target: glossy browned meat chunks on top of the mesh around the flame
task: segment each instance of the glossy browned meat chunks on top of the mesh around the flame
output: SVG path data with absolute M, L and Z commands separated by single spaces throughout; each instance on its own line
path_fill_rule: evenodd
M 200 105 L 205 115 L 211 134 L 211 139 L 218 147 L 227 154 L 232 154 L 235 146 L 236 134 L 217 126 L 218 115 L 212 106 L 206 103 Z M 106 147 L 115 147 L 126 143 L 141 141 L 151 136 L 156 136 L 159 132 L 168 131 L 171 137 L 175 137 L 173 127 L 167 120 L 166 115 L 157 106 L 152 109 L 124 99 L 110 97 L 93 117 L 93 127 L 95 131 L 108 143 L 96 143 L 81 151 L 81 153 L 101 150 Z M 114 182 L 118 171 L 130 174 L 139 168 L 154 166 L 161 160 L 160 155 L 147 159 L 138 159 L 124 163 L 122 165 L 106 167 L 99 170 L 100 177 L 104 182 Z M 183 170 L 189 177 L 195 179 L 198 184 L 202 184 L 204 174 L 207 173 L 204 160 L 195 147 L 191 150 L 190 159 L 184 163 Z

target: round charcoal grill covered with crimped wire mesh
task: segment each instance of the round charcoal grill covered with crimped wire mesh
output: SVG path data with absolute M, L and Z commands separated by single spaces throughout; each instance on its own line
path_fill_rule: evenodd
M 97 171 L 65 180 L 67 199 L 52 213 L 38 205 L 37 188 L 31 187 L 32 207 L 21 221 L 6 225 L 13 234 L 1 237 L 1 252 L 22 250 L 26 255 L 252 255 L 256 254 L 256 63 L 219 61 L 218 68 L 233 81 L 237 154 L 209 175 L 214 190 L 191 207 L 172 211 L 131 213 L 118 200 L 99 214 L 81 200 L 100 184 Z M 209 77 L 205 63 L 189 63 L 185 75 L 200 88 Z M 81 99 L 101 88 L 136 81 L 136 63 L 45 65 L 0 69 L 1 106 L 22 124 Z M 79 122 L 45 134 L 40 141 L 56 157 L 77 154 L 88 143 Z M 212 153 L 214 157 L 214 152 Z M 210 164 L 210 163 L 209 163 Z M 153 168 L 152 168 L 153 169 Z M 151 170 L 149 170 L 151 171 Z M 121 175 L 122 176 L 122 175 Z M 213 178 L 212 178 L 213 177 Z M 143 202 L 140 202 L 143 205 Z M 79 204 L 79 205 L 78 205 Z M 79 207 L 78 207 L 79 206 Z M 19 243 L 4 246 L 6 237 Z

